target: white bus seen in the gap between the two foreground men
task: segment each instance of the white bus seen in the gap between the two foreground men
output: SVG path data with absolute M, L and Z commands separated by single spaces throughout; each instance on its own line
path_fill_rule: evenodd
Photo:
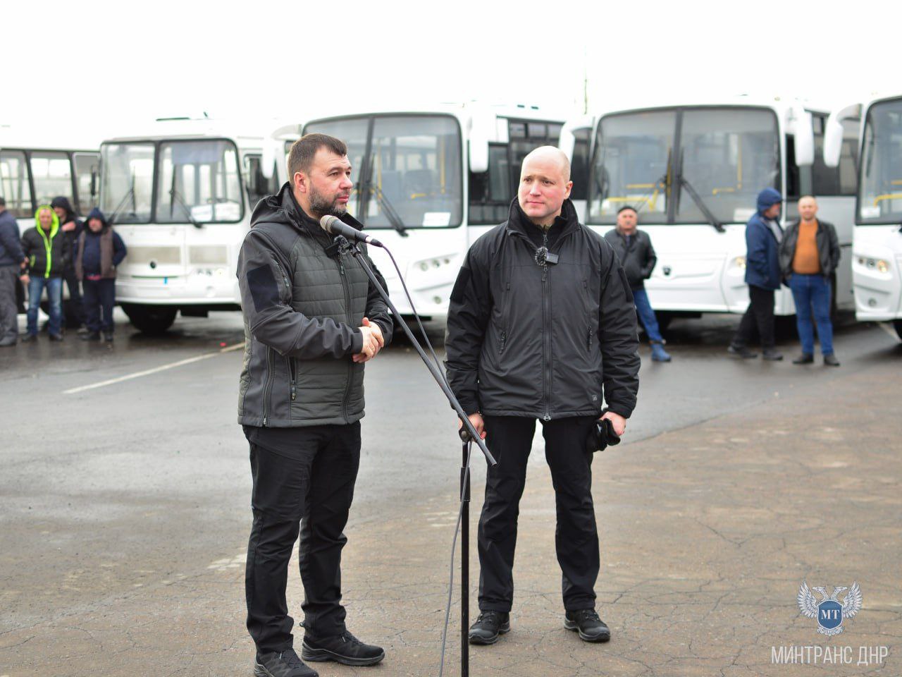
M 557 145 L 562 125 L 536 107 L 465 104 L 325 117 L 304 133 L 348 144 L 348 211 L 391 249 L 419 316 L 444 320 L 467 249 L 508 218 L 523 157 Z M 388 256 L 370 253 L 399 312 L 410 315 Z

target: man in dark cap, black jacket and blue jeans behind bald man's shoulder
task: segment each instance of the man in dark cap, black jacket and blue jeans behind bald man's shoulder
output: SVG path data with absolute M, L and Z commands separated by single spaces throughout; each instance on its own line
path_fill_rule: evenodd
M 651 344 L 651 359 L 655 362 L 669 362 L 670 354 L 664 349 L 664 337 L 658 328 L 658 318 L 651 307 L 649 294 L 645 291 L 645 281 L 651 277 L 651 272 L 658 263 L 658 256 L 651 246 L 649 234 L 636 227 L 638 216 L 635 209 L 621 207 L 617 212 L 617 227 L 605 233 L 604 239 L 617 252 L 617 258 L 630 283 L 636 314 Z

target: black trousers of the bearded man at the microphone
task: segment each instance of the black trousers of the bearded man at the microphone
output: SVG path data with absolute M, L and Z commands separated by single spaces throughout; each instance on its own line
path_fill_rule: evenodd
M 247 629 L 262 653 L 293 645 L 285 585 L 299 531 L 306 633 L 325 638 L 345 632 L 341 552 L 360 465 L 360 423 L 294 430 L 292 458 L 251 445 L 253 527 L 244 591 Z

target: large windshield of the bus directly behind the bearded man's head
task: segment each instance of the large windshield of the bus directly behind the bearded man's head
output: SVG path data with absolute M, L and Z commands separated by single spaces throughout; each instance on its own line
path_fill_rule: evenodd
M 348 211 L 366 227 L 455 227 L 462 222 L 460 127 L 452 116 L 363 116 L 313 122 L 348 146 Z

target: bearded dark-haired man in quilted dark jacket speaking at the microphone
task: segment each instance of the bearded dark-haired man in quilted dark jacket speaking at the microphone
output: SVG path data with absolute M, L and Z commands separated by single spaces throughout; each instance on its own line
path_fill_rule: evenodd
M 391 336 L 391 316 L 361 264 L 319 224 L 331 214 L 361 227 L 346 212 L 354 184 L 345 144 L 307 134 L 291 146 L 288 169 L 290 182 L 254 209 L 238 257 L 246 341 L 238 422 L 253 475 L 244 581 L 258 677 L 317 674 L 294 651 L 285 599 L 299 529 L 304 660 L 373 665 L 385 656 L 345 627 L 340 563 L 360 463 L 364 362 Z

